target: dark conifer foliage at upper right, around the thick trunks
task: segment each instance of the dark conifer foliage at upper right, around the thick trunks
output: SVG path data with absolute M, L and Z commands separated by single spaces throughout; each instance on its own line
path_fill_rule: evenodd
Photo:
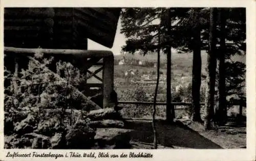
M 226 44 L 226 56 L 230 57 L 234 54 L 245 54 L 246 50 L 246 33 L 245 33 L 245 9 L 244 8 L 218 8 L 224 9 L 227 24 L 226 24 L 226 40 L 234 44 Z M 220 19 L 217 20 L 219 23 Z M 173 47 L 177 48 L 181 53 L 191 52 L 194 48 L 193 33 L 195 28 L 201 30 L 202 50 L 208 49 L 209 38 L 209 8 L 188 8 L 188 10 L 179 17 L 179 21 L 174 26 L 172 34 L 174 42 Z M 216 37 L 221 36 L 220 26 L 217 26 Z M 218 39 L 217 45 L 220 44 Z

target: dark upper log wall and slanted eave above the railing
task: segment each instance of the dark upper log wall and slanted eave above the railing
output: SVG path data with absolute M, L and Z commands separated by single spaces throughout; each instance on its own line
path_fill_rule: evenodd
M 112 48 L 120 8 L 5 8 L 6 47 L 87 49 L 90 38 Z

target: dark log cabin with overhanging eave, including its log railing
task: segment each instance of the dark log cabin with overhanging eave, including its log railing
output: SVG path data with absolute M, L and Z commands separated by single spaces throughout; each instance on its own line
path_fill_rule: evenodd
M 4 46 L 20 49 L 87 50 L 88 39 L 91 39 L 112 48 L 120 12 L 121 8 L 5 8 Z M 90 53 L 89 56 L 84 53 L 68 53 L 65 56 L 54 54 L 54 57 L 56 60 L 73 60 L 90 77 L 97 77 L 99 71 L 92 72 L 89 68 L 101 65 L 102 78 L 97 79 L 102 83 L 88 83 L 87 89 L 99 87 L 103 94 L 94 101 L 101 107 L 107 107 L 111 104 L 110 94 L 114 88 L 114 57 L 110 51 Z M 29 60 L 26 56 L 17 58 L 22 54 L 24 53 L 19 52 L 17 56 L 17 53 L 5 50 L 5 66 L 14 72 L 15 59 L 19 69 L 24 68 Z M 52 64 L 50 69 L 56 72 L 56 65 Z M 98 92 L 92 90 L 87 96 L 91 97 Z

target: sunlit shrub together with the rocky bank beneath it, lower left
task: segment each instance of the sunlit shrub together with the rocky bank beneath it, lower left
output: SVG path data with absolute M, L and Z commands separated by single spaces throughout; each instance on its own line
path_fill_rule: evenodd
M 77 116 L 79 110 L 73 109 L 91 106 L 80 92 L 86 76 L 63 61 L 57 61 L 57 74 L 54 74 L 47 67 L 55 65 L 52 62 L 53 57 L 35 54 L 20 71 L 10 72 L 5 64 L 4 134 L 5 139 L 10 135 L 17 140 L 7 140 L 5 147 L 88 149 L 93 146 L 95 129 L 83 121 L 86 111 L 80 111 Z M 82 124 L 75 123 L 78 118 Z M 50 145 L 42 146 L 43 139 Z

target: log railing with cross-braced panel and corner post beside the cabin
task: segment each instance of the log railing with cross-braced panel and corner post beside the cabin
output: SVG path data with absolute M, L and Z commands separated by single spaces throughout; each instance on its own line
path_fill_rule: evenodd
M 75 67 L 80 68 L 81 71 L 84 71 L 84 75 L 87 76 L 89 73 L 90 79 L 91 77 L 95 77 L 100 81 L 100 83 L 89 83 L 87 82 L 87 87 L 90 89 L 91 87 L 99 87 L 101 88 L 101 92 L 103 94 L 103 107 L 112 104 L 111 102 L 111 91 L 114 87 L 114 56 L 111 51 L 94 51 L 94 50 L 75 50 L 75 49 L 30 49 L 30 48 L 14 48 L 14 47 L 4 47 L 5 56 L 8 53 L 16 53 L 28 56 L 30 60 L 32 60 L 37 65 L 40 65 L 40 62 L 33 58 L 35 53 L 44 53 L 49 56 L 57 57 L 59 60 L 75 62 Z M 100 60 L 103 62 L 99 62 Z M 90 71 L 90 68 L 95 65 L 100 65 L 101 67 L 95 71 Z M 52 72 L 55 77 L 61 79 L 62 81 L 67 82 L 64 78 L 61 78 L 56 73 L 54 73 L 50 68 L 47 69 L 49 72 Z M 102 72 L 102 78 L 98 77 L 96 74 Z M 73 87 L 75 88 L 75 87 Z M 84 96 L 77 88 L 75 88 L 77 93 L 80 93 L 84 98 L 88 98 L 88 96 Z M 95 107 L 100 108 L 95 102 L 89 100 L 91 104 Z

